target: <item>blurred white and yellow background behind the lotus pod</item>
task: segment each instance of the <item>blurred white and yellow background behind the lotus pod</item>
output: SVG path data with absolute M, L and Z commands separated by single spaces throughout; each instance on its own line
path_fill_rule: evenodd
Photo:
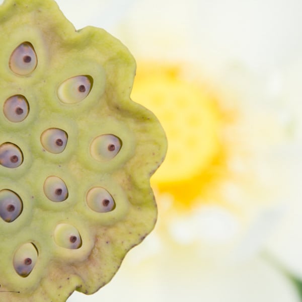
M 169 139 L 155 231 L 78 301 L 301 301 L 302 2 L 57 0 L 137 60 Z

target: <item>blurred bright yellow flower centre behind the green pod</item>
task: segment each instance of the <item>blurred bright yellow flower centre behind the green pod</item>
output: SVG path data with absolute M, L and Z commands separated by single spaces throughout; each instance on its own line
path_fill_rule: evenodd
M 192 205 L 224 162 L 213 93 L 187 80 L 180 67 L 138 63 L 131 97 L 156 114 L 168 137 L 166 160 L 152 184 Z

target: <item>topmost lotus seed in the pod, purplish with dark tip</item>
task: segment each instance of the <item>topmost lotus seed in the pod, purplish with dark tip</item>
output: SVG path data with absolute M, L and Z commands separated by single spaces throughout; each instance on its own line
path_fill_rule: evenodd
M 27 75 L 37 66 L 37 55 L 30 42 L 23 42 L 12 52 L 9 60 L 11 70 L 19 75 Z

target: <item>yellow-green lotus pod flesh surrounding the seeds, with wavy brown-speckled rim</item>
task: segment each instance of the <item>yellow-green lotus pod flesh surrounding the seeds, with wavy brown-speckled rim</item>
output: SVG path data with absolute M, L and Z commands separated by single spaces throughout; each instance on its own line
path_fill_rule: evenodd
M 0 29 L 2 107 L 17 94 L 29 104 L 28 116 L 17 123 L 0 111 L 0 144 L 16 144 L 24 157 L 15 169 L 0 166 L 0 190 L 16 192 L 23 202 L 16 220 L 0 218 L 0 300 L 54 302 L 65 301 L 74 290 L 94 293 L 154 227 L 157 207 L 149 178 L 166 154 L 164 131 L 153 113 L 130 100 L 135 61 L 104 30 L 75 31 L 52 0 L 5 1 Z M 20 75 L 9 60 L 23 42 L 34 47 L 37 65 Z M 80 102 L 61 102 L 60 84 L 77 75 L 93 79 L 90 93 Z M 49 128 L 66 131 L 62 153 L 43 148 L 40 136 Z M 96 161 L 90 152 L 92 141 L 103 134 L 122 141 L 118 154 L 106 162 Z M 52 175 L 68 188 L 62 202 L 44 194 L 44 180 Z M 87 205 L 93 187 L 111 194 L 112 211 L 96 212 Z M 80 248 L 56 244 L 54 230 L 60 223 L 77 228 Z M 38 258 L 31 273 L 22 277 L 13 257 L 26 243 L 36 247 Z

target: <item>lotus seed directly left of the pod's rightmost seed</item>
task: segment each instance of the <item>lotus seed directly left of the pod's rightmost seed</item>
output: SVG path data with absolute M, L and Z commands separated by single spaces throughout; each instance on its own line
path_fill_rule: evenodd
M 58 128 L 49 128 L 45 130 L 40 137 L 41 144 L 50 153 L 62 153 L 66 147 L 67 133 Z

